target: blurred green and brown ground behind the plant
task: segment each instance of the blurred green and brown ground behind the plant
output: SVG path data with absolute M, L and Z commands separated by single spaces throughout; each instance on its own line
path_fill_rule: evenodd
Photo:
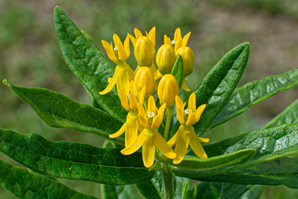
M 60 52 L 53 19 L 60 6 L 81 29 L 102 47 L 117 33 L 123 41 L 137 27 L 142 33 L 156 26 L 156 50 L 164 34 L 173 39 L 191 31 L 188 46 L 195 53 L 189 76 L 192 91 L 221 57 L 248 41 L 250 57 L 238 86 L 268 75 L 284 73 L 298 63 L 298 2 L 294 0 L 0 0 L 0 79 L 25 87 L 43 87 L 80 103 L 91 98 L 66 66 Z M 132 47 L 132 45 L 131 45 Z M 131 48 L 133 49 L 133 48 Z M 133 53 L 128 60 L 136 67 Z M 113 63 L 114 64 L 114 63 Z M 260 129 L 297 99 L 298 88 L 279 93 L 250 108 L 228 123 L 204 134 L 211 142 Z M 0 84 L 0 128 L 18 133 L 38 133 L 52 141 L 65 140 L 101 146 L 104 139 L 91 133 L 48 127 L 27 104 Z M 0 152 L 0 158 L 18 165 Z M 100 197 L 100 184 L 59 179 L 60 182 Z M 295 198 L 298 191 L 285 186 L 266 186 L 261 198 Z M 14 196 L 0 187 L 0 198 Z

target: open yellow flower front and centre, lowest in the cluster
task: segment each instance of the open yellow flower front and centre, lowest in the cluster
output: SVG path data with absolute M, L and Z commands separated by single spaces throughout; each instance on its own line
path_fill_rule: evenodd
M 154 162 L 155 146 L 165 157 L 169 159 L 175 158 L 176 154 L 173 149 L 156 130 L 162 123 L 166 104 L 163 104 L 157 109 L 153 96 L 150 96 L 147 112 L 145 112 L 142 104 L 138 103 L 137 106 L 139 110 L 139 121 L 144 129 L 129 146 L 121 150 L 121 153 L 129 155 L 142 146 L 143 162 L 148 168 L 151 167 Z

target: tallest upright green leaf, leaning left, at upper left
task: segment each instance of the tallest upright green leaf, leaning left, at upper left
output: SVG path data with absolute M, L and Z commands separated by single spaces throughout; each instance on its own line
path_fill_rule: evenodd
M 117 93 L 112 90 L 105 95 L 99 94 L 108 85 L 108 78 L 114 74 L 114 68 L 60 7 L 55 7 L 54 18 L 57 39 L 66 64 L 98 104 L 124 123 L 127 111 L 122 108 Z

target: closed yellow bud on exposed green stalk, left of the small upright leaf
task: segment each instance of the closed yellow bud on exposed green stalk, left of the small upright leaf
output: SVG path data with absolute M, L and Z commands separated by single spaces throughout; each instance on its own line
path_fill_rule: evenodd
M 176 95 L 179 96 L 179 86 L 176 78 L 171 74 L 162 76 L 157 88 L 157 95 L 160 104 L 166 103 L 166 106 L 175 104 Z

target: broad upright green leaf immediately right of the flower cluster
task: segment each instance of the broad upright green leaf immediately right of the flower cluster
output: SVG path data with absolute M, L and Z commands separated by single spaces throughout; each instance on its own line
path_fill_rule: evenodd
M 200 120 L 193 125 L 198 136 L 207 130 L 228 103 L 246 67 L 248 56 L 249 43 L 236 46 L 221 58 L 195 90 L 196 106 L 207 104 Z

